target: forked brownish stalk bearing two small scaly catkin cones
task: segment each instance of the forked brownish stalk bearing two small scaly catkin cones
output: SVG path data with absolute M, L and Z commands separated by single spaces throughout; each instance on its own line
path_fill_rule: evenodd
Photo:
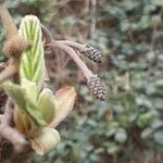
M 82 45 L 70 40 L 54 40 L 52 39 L 50 32 L 43 25 L 42 25 L 42 34 L 46 40 L 45 42 L 46 43 L 49 42 L 46 45 L 46 47 L 51 48 L 52 50 L 57 48 L 68 54 L 78 65 L 78 67 L 83 71 L 84 76 L 87 79 L 88 88 L 90 89 L 92 95 L 101 101 L 104 100 L 106 97 L 106 91 L 104 89 L 101 79 L 99 78 L 98 75 L 92 74 L 92 72 L 80 59 L 80 54 L 84 54 L 93 62 L 102 63 L 103 62 L 102 54 L 98 50 L 87 45 Z

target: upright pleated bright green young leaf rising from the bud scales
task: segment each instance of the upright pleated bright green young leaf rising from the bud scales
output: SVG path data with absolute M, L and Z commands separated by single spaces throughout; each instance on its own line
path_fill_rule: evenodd
M 36 83 L 40 90 L 45 76 L 45 52 L 39 20 L 34 15 L 26 15 L 21 22 L 18 34 L 32 41 L 32 48 L 25 51 L 21 59 L 21 84 L 25 78 Z

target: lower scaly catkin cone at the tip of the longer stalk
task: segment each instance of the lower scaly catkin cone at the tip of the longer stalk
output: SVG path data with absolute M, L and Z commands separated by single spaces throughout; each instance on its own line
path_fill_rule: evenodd
M 91 76 L 88 79 L 87 85 L 97 99 L 101 101 L 105 100 L 106 92 L 98 75 Z

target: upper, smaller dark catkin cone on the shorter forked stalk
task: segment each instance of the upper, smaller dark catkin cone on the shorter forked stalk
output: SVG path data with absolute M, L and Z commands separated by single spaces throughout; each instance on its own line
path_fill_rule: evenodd
M 103 62 L 103 55 L 101 54 L 100 51 L 93 49 L 92 47 L 86 45 L 87 50 L 84 53 L 85 57 L 87 57 L 89 60 L 97 62 L 97 63 L 102 63 Z

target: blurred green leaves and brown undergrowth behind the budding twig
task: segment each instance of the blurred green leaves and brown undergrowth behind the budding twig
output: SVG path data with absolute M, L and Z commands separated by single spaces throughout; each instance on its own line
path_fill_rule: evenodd
M 51 88 L 76 87 L 75 110 L 58 127 L 62 141 L 43 163 L 161 163 L 163 152 L 163 2 L 161 0 L 7 0 L 16 24 L 36 14 L 55 39 L 90 43 L 104 54 L 108 99 L 90 95 L 63 52 L 47 51 Z M 0 26 L 0 42 L 5 32 Z M 7 59 L 0 49 L 0 60 Z

